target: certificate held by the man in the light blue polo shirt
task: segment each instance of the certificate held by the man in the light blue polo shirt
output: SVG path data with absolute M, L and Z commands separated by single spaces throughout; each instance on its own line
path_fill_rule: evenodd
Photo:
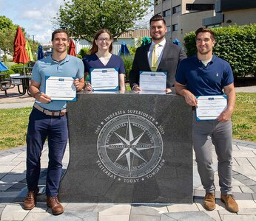
M 45 94 L 52 100 L 75 101 L 76 88 L 73 77 L 45 77 Z

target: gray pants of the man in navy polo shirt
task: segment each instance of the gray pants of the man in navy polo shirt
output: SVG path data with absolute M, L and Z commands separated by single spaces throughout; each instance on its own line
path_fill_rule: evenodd
M 212 144 L 218 156 L 220 192 L 232 194 L 232 122 L 195 120 L 193 114 L 193 144 L 195 161 L 206 192 L 215 191 L 214 169 L 212 168 Z

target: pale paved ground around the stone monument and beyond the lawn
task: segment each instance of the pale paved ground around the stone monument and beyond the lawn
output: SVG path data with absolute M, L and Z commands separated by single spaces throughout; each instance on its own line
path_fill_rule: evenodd
M 256 92 L 256 87 L 247 87 L 241 92 Z M 255 90 L 255 91 L 252 91 Z M 239 91 L 240 92 L 240 91 Z M 1 97 L 1 94 L 0 94 Z M 12 100 L 10 102 L 10 99 Z M 17 101 L 18 100 L 18 101 Z M 25 100 L 25 101 L 24 101 Z M 20 104 L 21 103 L 21 104 Z M 20 108 L 33 105 L 31 97 L 1 98 L 0 108 Z M 216 209 L 203 208 L 204 190 L 193 164 L 194 203 L 192 204 L 118 204 L 118 203 L 63 203 L 65 211 L 53 216 L 44 201 L 45 179 L 47 172 L 47 144 L 41 156 L 41 178 L 38 203 L 31 211 L 23 209 L 27 193 L 25 180 L 26 148 L 17 147 L 0 151 L 0 220 L 88 220 L 88 221 L 169 221 L 169 220 L 256 220 L 256 144 L 247 141 L 233 141 L 233 194 L 238 202 L 238 214 L 230 213 L 220 201 L 218 186 L 217 157 L 215 151 Z M 64 169 L 69 161 L 69 147 L 64 155 Z

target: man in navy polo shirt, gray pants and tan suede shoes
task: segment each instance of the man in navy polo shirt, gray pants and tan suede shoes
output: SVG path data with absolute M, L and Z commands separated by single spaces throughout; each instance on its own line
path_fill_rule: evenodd
M 227 97 L 227 108 L 216 120 L 196 121 L 193 113 L 193 145 L 198 172 L 206 190 L 204 207 L 215 209 L 214 169 L 212 168 L 212 144 L 218 155 L 220 200 L 226 209 L 238 212 L 238 204 L 232 195 L 232 122 L 235 108 L 235 87 L 232 69 L 225 60 L 212 54 L 215 35 L 210 29 L 199 28 L 195 32 L 198 53 L 182 60 L 176 74 L 175 89 L 188 105 L 197 106 L 195 96 L 221 95 Z

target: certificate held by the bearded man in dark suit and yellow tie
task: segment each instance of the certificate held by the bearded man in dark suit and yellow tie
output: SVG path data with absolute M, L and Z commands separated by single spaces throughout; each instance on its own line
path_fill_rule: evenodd
M 140 71 L 140 88 L 142 91 L 165 91 L 167 72 Z

